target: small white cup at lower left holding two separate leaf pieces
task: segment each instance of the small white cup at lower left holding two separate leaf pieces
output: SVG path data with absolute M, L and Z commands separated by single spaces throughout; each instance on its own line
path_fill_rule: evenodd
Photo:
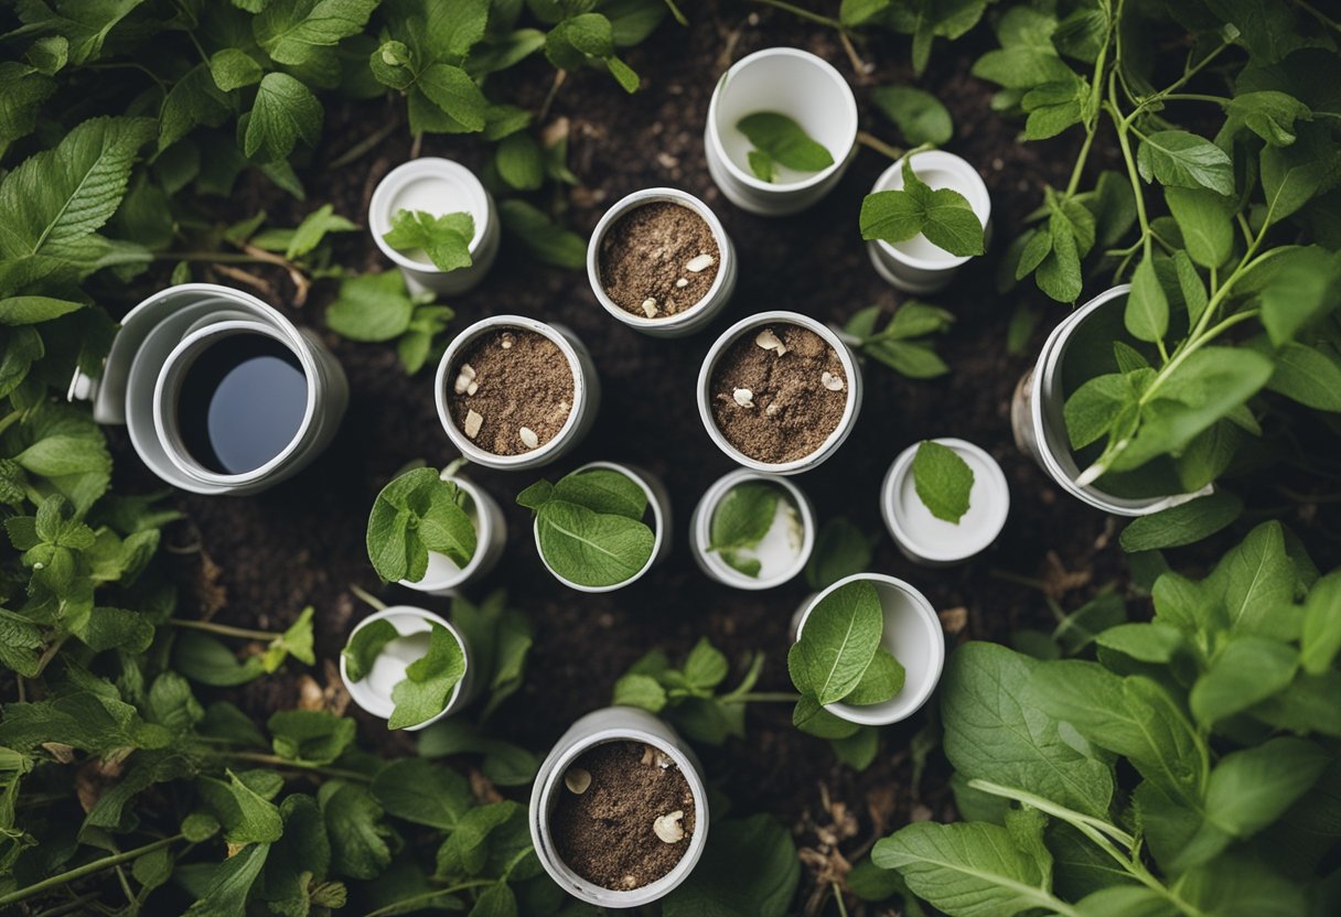
M 473 694 L 465 637 L 409 605 L 363 618 L 345 644 L 339 674 L 350 698 L 386 720 L 389 729 L 422 729 L 460 711 Z

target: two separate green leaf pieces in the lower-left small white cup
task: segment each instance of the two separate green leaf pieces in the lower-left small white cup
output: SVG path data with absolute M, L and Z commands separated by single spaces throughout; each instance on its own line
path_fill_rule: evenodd
M 343 650 L 345 670 L 350 681 L 362 681 L 373 670 L 377 657 L 401 633 L 385 618 L 359 627 Z M 428 652 L 405 668 L 405 678 L 392 688 L 396 709 L 386 721 L 390 729 L 418 725 L 443 712 L 452 690 L 465 676 L 465 652 L 447 627 L 433 623 Z

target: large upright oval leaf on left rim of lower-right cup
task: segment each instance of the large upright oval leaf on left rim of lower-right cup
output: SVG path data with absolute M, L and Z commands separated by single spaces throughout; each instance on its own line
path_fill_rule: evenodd
M 876 587 L 868 580 L 839 586 L 811 609 L 787 653 L 793 684 L 822 705 L 841 701 L 861 682 L 882 630 Z

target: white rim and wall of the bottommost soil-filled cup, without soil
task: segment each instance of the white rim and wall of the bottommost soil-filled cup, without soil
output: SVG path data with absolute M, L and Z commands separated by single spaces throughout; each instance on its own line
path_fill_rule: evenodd
M 550 814 L 555 799 L 558 794 L 567 792 L 563 775 L 569 766 L 590 748 L 607 741 L 645 743 L 665 753 L 684 774 L 693 795 L 693 834 L 680 862 L 656 882 L 628 892 L 602 888 L 574 873 L 559 857 L 550 834 Z M 607 707 L 583 716 L 554 744 L 536 772 L 528 819 L 535 854 L 559 888 L 598 908 L 638 908 L 664 898 L 689 878 L 699 863 L 708 843 L 708 788 L 697 755 L 666 723 L 633 707 Z

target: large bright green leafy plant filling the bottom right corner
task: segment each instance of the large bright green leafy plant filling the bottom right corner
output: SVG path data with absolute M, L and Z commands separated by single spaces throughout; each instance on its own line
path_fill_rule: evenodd
M 968 820 L 874 862 L 948 914 L 1328 913 L 1338 585 L 1266 523 L 1204 579 L 1160 575 L 1097 661 L 964 645 L 940 708 Z

